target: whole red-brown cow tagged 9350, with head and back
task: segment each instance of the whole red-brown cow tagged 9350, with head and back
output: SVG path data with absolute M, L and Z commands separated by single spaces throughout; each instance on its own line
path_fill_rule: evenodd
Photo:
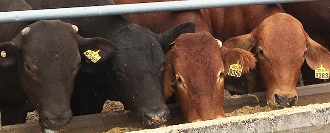
M 169 0 L 116 0 L 116 3 L 158 2 Z M 189 10 L 125 15 L 133 23 L 154 32 L 180 22 L 196 23 L 196 33 L 182 34 L 166 53 L 164 97 L 175 95 L 188 122 L 225 117 L 223 86 L 230 65 L 243 65 L 243 72 L 255 67 L 255 58 L 245 50 L 221 47 L 212 37 L 208 10 Z

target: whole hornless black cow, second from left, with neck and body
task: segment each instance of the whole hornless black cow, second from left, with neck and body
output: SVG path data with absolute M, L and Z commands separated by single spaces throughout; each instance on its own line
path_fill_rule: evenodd
M 111 0 L 26 0 L 34 9 L 112 5 Z M 161 34 L 128 22 L 123 16 L 103 16 L 63 20 L 80 27 L 83 37 L 102 37 L 117 47 L 106 63 L 95 64 L 82 59 L 72 95 L 71 107 L 76 115 L 100 112 L 106 99 L 123 103 L 125 109 L 136 112 L 145 126 L 157 126 L 169 118 L 162 97 L 163 49 L 182 33 L 195 31 L 193 22 L 171 27 Z M 93 72 L 86 74 L 86 72 Z M 100 78 L 104 77 L 104 78 Z M 88 84 L 86 84 L 88 83 Z M 110 84 L 111 83 L 111 84 Z

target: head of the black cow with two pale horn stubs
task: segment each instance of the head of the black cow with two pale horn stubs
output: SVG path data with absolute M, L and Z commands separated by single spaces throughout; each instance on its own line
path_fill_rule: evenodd
M 75 25 L 59 20 L 38 21 L 11 42 L 0 44 L 0 50 L 6 53 L 1 54 L 0 66 L 17 63 L 21 86 L 45 131 L 59 130 L 71 121 L 70 98 L 80 66 L 79 53 L 85 52 L 85 47 L 103 47 L 104 53 L 114 49 L 105 39 L 84 39 L 77 31 Z

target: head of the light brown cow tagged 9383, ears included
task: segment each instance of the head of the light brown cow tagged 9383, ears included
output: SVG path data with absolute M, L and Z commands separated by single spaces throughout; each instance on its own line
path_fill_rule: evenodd
M 285 13 L 266 18 L 250 34 L 229 39 L 226 47 L 253 49 L 273 109 L 291 107 L 298 100 L 296 83 L 306 59 L 309 67 L 330 68 L 330 53 L 306 34 L 302 24 Z M 255 49 L 255 50 L 254 50 Z

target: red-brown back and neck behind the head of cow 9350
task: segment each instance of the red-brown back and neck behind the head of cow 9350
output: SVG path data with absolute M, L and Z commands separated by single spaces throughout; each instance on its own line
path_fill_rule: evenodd
M 176 0 L 114 0 L 116 4 L 128 3 L 145 3 L 145 2 L 161 2 Z M 195 22 L 196 32 L 207 31 L 212 33 L 211 21 L 209 20 L 208 10 L 189 10 L 189 11 L 172 11 L 172 12 L 156 12 L 128 14 L 125 18 L 132 23 L 139 24 L 149 28 L 155 33 L 163 33 L 167 29 L 174 27 L 182 22 Z

